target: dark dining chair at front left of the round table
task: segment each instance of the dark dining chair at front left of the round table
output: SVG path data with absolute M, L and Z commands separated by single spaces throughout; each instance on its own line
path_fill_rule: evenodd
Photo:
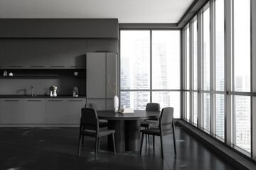
M 95 160 L 100 146 L 100 137 L 112 135 L 114 155 L 116 154 L 114 145 L 115 130 L 106 130 L 99 128 L 99 119 L 97 118 L 97 111 L 94 108 L 82 108 L 82 115 L 80 119 L 79 128 L 79 142 L 78 142 L 78 157 L 80 157 L 80 150 L 82 145 L 82 137 L 95 137 Z

